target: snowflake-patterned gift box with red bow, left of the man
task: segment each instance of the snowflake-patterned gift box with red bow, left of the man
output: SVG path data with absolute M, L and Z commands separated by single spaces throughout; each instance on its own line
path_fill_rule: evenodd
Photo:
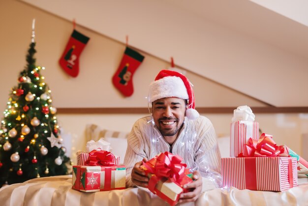
M 84 166 L 73 166 L 72 189 L 97 192 L 125 189 L 125 166 L 115 165 L 115 156 L 93 150 Z

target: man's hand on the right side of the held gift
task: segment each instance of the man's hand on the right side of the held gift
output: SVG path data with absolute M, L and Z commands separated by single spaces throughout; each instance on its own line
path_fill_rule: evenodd
M 201 174 L 198 171 L 194 171 L 192 174 L 192 178 L 195 179 L 195 181 L 184 185 L 185 189 L 191 188 L 192 191 L 182 193 L 180 196 L 179 203 L 195 202 L 200 196 L 202 189 Z

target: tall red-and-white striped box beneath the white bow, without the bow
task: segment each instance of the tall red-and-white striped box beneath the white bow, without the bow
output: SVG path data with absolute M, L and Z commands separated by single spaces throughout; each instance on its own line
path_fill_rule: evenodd
M 230 157 L 238 157 L 250 137 L 259 139 L 259 122 L 237 121 L 231 123 Z

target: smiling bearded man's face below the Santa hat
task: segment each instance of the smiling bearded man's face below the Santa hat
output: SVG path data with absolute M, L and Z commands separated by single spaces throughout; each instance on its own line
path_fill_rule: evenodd
M 186 105 L 180 98 L 162 98 L 152 103 L 155 125 L 164 137 L 177 137 L 182 128 Z

